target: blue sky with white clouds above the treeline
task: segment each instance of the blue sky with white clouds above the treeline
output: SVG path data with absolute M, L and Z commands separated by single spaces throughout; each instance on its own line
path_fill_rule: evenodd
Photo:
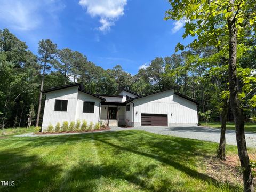
M 0 29 L 7 28 L 37 54 L 51 39 L 104 69 L 119 64 L 136 74 L 156 57 L 175 53 L 184 21 L 165 21 L 167 0 L 0 0 Z

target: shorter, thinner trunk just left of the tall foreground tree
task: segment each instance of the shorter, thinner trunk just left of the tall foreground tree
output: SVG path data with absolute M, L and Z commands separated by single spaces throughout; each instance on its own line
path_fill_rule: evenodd
M 222 109 L 222 121 L 221 121 L 221 132 L 220 132 L 220 143 L 217 151 L 217 157 L 221 160 L 226 160 L 226 125 L 227 125 L 227 116 L 228 116 L 228 97 L 225 98 Z

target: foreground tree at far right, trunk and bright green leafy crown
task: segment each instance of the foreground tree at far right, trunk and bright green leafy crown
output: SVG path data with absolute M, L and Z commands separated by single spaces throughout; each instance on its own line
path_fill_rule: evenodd
M 253 177 L 244 135 L 244 115 L 238 98 L 237 41 L 242 41 L 246 30 L 255 30 L 256 2 L 229 1 L 169 1 L 172 8 L 166 11 L 165 19 L 186 21 L 183 38 L 188 35 L 196 39 L 189 45 L 215 45 L 228 37 L 228 76 L 230 104 L 236 125 L 238 156 L 243 170 L 244 191 L 253 191 Z M 252 40 L 254 41 L 254 40 Z M 180 43 L 177 49 L 185 49 Z

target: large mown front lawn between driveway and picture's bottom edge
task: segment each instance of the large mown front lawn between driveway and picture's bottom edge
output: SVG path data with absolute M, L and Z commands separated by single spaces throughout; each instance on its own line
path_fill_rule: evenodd
M 145 131 L 0 138 L 0 191 L 241 191 L 206 174 L 217 143 Z M 227 146 L 235 154 L 235 146 Z

